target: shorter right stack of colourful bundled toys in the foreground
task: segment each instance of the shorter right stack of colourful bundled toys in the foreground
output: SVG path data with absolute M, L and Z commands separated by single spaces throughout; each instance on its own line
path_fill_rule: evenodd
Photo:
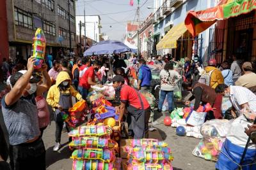
M 172 170 L 172 153 L 168 144 L 157 139 L 132 139 L 125 147 L 127 167 L 138 170 Z

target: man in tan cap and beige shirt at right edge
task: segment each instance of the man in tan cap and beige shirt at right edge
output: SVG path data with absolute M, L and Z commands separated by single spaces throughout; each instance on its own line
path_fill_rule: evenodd
M 256 92 L 256 74 L 252 72 L 252 63 L 244 62 L 242 66 L 243 76 L 236 81 L 236 85 L 246 87 Z

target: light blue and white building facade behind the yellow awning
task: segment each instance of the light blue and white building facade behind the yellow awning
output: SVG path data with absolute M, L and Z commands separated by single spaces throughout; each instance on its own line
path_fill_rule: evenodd
M 210 8 L 214 6 L 214 4 L 213 0 L 155 0 L 154 34 L 152 36 L 152 39 L 154 39 L 154 55 L 172 53 L 173 57 L 180 59 L 183 57 L 193 58 L 193 55 L 198 54 L 203 60 L 207 58 L 209 30 L 202 32 L 202 34 L 195 38 L 193 38 L 188 31 L 184 32 L 184 34 L 177 39 L 176 48 L 157 50 L 156 45 L 172 27 L 184 22 L 189 10 L 198 11 Z

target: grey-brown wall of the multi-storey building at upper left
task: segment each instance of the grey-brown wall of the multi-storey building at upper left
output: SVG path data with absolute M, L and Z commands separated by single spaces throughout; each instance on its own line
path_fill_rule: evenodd
M 68 12 L 68 3 L 66 0 L 54 0 L 54 10 L 49 10 L 45 8 L 44 5 L 41 3 L 38 3 L 36 1 L 30 1 L 30 0 L 8 0 L 6 4 L 7 9 L 7 19 L 8 19 L 8 40 L 10 43 L 10 46 L 12 46 L 10 53 L 12 55 L 17 55 L 17 52 L 19 55 L 22 56 L 28 56 L 31 54 L 31 43 L 33 41 L 33 37 L 35 36 L 35 30 L 36 29 L 29 29 L 27 27 L 23 27 L 21 25 L 15 24 L 15 18 L 14 18 L 14 7 L 17 7 L 21 10 L 27 11 L 28 13 L 31 13 L 32 15 L 35 15 L 36 17 L 40 17 L 44 20 L 47 20 L 49 22 L 52 22 L 55 25 L 55 32 L 56 35 L 53 36 L 51 34 L 45 34 L 46 42 L 47 42 L 47 52 L 52 52 L 51 46 L 63 46 L 63 47 L 69 47 L 69 32 L 68 32 L 68 19 L 63 19 L 60 16 L 58 16 L 58 5 L 61 6 L 61 8 L 65 9 L 65 11 Z M 75 4 L 73 6 L 70 5 L 70 15 L 75 17 L 76 11 L 75 11 Z M 33 17 L 32 17 L 33 22 Z M 67 30 L 67 38 L 63 39 L 63 41 L 59 41 L 59 27 L 62 27 L 63 29 Z M 70 22 L 70 31 L 74 32 L 76 34 L 76 26 Z M 76 35 L 74 36 L 74 41 L 72 41 L 72 48 L 76 48 Z M 25 57 L 26 58 L 26 57 Z

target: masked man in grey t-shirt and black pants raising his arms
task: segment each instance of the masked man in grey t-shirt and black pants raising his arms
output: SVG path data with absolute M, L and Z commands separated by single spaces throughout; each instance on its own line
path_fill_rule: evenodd
M 28 59 L 28 71 L 13 74 L 12 90 L 3 97 L 4 124 L 10 141 L 10 165 L 12 169 L 45 169 L 45 147 L 40 138 L 36 110 L 35 85 L 32 73 L 35 58 Z

